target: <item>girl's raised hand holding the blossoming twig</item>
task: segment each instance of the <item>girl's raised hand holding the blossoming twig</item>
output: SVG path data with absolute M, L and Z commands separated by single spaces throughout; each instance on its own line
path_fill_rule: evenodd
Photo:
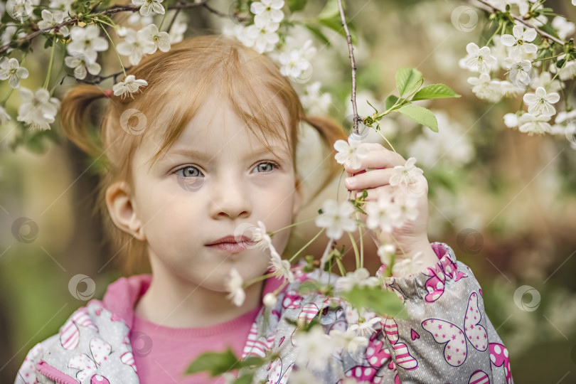
M 358 147 L 364 146 L 369 150 L 368 156 L 361 159 L 361 166 L 352 169 L 346 164 L 344 169 L 348 173 L 348 178 L 344 182 L 346 188 L 351 190 L 355 198 L 362 195 L 363 189 L 368 190 L 366 201 L 378 201 L 380 195 L 392 193 L 407 193 L 417 200 L 416 209 L 418 211 L 415 220 L 407 220 L 400 228 L 393 228 L 390 235 L 388 233 L 375 233 L 368 229 L 370 237 L 376 246 L 383 243 L 396 246 L 396 262 L 403 259 L 413 260 L 415 256 L 422 263 L 418 263 L 417 269 L 425 270 L 438 262 L 438 258 L 430 246 L 427 235 L 428 227 L 428 183 L 425 176 L 420 174 L 414 176 L 413 183 L 401 183 L 399 186 L 391 186 L 390 176 L 395 174 L 395 166 L 403 166 L 406 160 L 400 154 L 385 149 L 376 143 L 361 143 Z M 352 176 L 356 174 L 356 176 Z M 400 189 L 400 191 L 398 191 Z M 367 216 L 360 213 L 363 223 L 366 224 Z M 378 230 L 378 229 L 377 229 Z M 380 232 L 380 230 L 378 230 Z M 404 252 L 402 252 L 402 250 Z M 422 252 L 421 255 L 417 255 Z M 406 272 L 417 272 L 407 270 Z

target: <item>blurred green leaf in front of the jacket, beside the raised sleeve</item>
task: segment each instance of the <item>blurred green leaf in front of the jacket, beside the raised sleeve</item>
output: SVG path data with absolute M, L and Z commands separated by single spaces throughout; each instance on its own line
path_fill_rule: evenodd
M 394 292 L 380 287 L 355 286 L 341 297 L 356 308 L 366 308 L 376 314 L 392 316 L 395 319 L 407 319 L 408 313 L 402 300 Z

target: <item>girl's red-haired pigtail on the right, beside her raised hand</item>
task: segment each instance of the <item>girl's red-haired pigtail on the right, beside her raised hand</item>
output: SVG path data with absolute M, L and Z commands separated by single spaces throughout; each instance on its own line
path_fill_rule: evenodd
M 334 119 L 331 119 L 329 117 L 304 115 L 301 117 L 301 119 L 303 122 L 310 124 L 311 127 L 314 127 L 314 129 L 316 129 L 322 142 L 324 142 L 326 149 L 328 149 L 331 152 L 331 156 L 329 159 L 329 169 L 326 173 L 326 178 L 324 178 L 324 181 L 322 181 L 318 189 L 316 189 L 316 191 L 314 191 L 314 193 L 311 195 L 316 196 L 320 191 L 323 191 L 324 188 L 326 188 L 326 186 L 328 186 L 332 181 L 334 181 L 334 178 L 340 176 L 340 174 L 342 173 L 343 171 L 342 164 L 338 164 L 338 162 L 336 162 L 336 159 L 334 159 L 334 152 L 336 151 L 336 149 L 334 149 L 334 143 L 337 140 L 347 141 L 348 134 L 346 134 L 341 125 L 337 124 L 334 121 Z M 312 200 L 313 199 L 310 199 L 310 201 L 308 201 L 307 203 L 310 203 Z

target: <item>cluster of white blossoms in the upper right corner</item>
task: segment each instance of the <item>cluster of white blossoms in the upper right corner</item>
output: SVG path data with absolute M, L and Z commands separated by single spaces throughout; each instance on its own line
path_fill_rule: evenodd
M 555 31 L 560 39 L 570 38 L 576 31 L 575 24 L 562 16 L 548 20 L 543 1 L 489 0 L 487 3 L 495 7 L 494 15 L 502 13 L 506 6 L 514 6 L 510 12 L 517 10 L 518 18 L 514 18 L 513 25 L 500 19 L 486 46 L 479 47 L 476 43 L 466 46 L 467 55 L 459 60 L 459 66 L 475 73 L 468 78 L 472 92 L 489 102 L 521 97 L 519 110 L 504 116 L 506 127 L 518 128 L 528 135 L 571 136 L 576 129 L 576 112 L 566 103 L 565 110 L 557 114 L 554 105 L 566 89 L 565 82 L 576 78 L 576 52 L 570 43 L 560 46 L 558 41 L 548 41 L 548 36 L 538 35 L 540 27 L 546 26 L 547 31 Z M 563 51 L 558 53 L 557 49 Z M 501 72 L 505 73 L 506 80 L 499 78 Z M 524 105 L 527 110 L 523 110 Z

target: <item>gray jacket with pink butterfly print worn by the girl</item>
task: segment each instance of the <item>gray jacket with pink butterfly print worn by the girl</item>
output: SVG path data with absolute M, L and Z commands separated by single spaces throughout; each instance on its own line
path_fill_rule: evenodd
M 451 247 L 434 242 L 432 248 L 439 257 L 434 268 L 386 280 L 385 288 L 398 294 L 410 318 L 383 319 L 375 324 L 368 346 L 333 353 L 323 368 L 314 370 L 318 383 L 341 383 L 343 378 L 390 384 L 513 383 L 508 350 L 486 315 L 480 284 Z M 300 274 L 279 294 L 274 308 L 263 307 L 257 315 L 242 357 L 279 352 L 272 364 L 257 370 L 258 380 L 287 383 L 298 353 L 293 321 L 319 317 L 326 333 L 346 330 L 356 321 L 345 304 L 329 306 L 317 293 L 299 293 L 306 279 L 328 278 L 334 282 L 334 275 L 318 270 Z M 126 302 L 134 303 L 134 294 L 139 292 L 126 294 L 132 295 Z M 121 306 L 107 307 L 105 299 L 92 299 L 58 334 L 36 344 L 15 384 L 139 383 L 129 341 L 132 322 L 123 318 Z

